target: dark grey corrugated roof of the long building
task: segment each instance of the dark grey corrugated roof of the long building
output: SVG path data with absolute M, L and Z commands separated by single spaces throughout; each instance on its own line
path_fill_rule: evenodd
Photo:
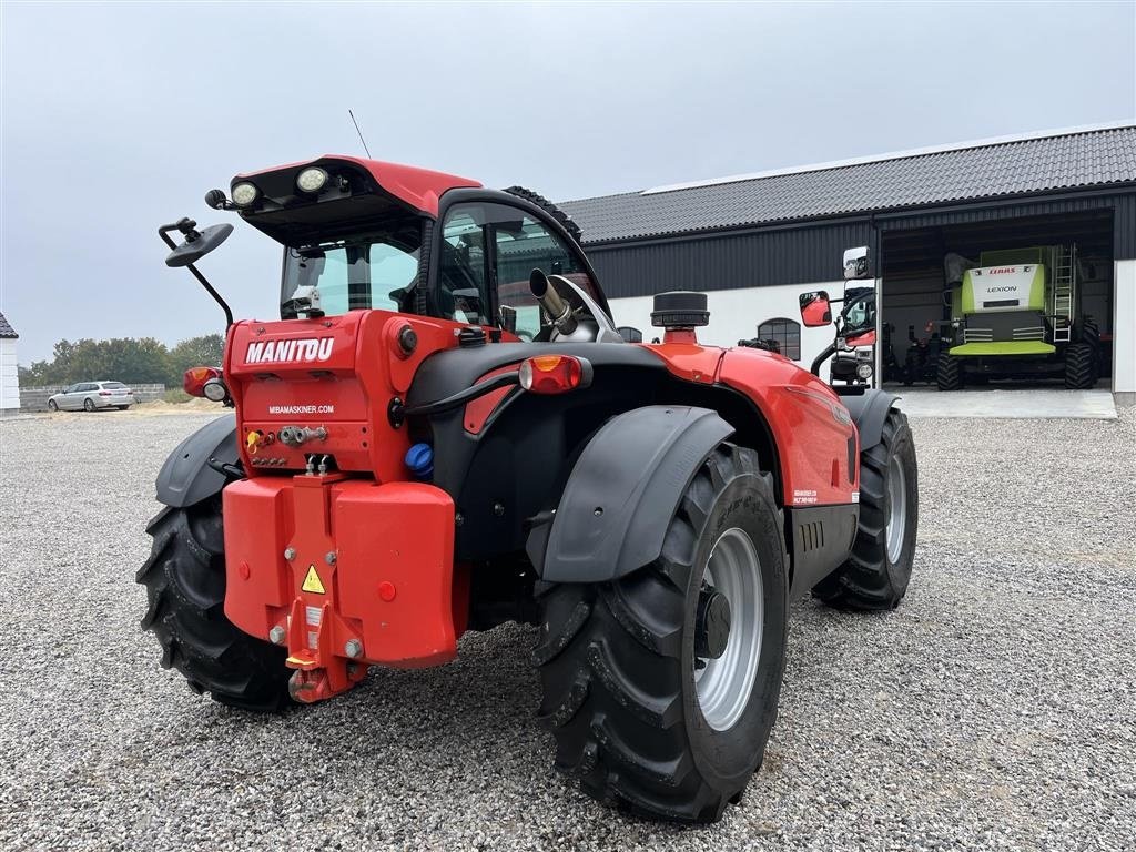
M 1124 124 L 660 186 L 559 207 L 584 229 L 586 244 L 1131 182 L 1136 124 Z

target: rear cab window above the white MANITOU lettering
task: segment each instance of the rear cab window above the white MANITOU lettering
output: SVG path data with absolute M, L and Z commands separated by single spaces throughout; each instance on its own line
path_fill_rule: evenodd
M 285 248 L 281 316 L 294 318 L 287 303 L 301 286 L 318 287 L 331 316 L 366 308 L 412 312 L 420 247 L 420 228 L 402 228 Z

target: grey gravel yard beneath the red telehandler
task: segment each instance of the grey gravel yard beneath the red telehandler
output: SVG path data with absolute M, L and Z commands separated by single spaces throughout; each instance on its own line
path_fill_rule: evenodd
M 202 423 L 0 423 L 0 849 L 1134 847 L 1134 409 L 913 420 L 907 601 L 795 605 L 765 768 L 693 829 L 551 770 L 529 628 L 283 718 L 160 669 L 134 571 L 154 474 Z

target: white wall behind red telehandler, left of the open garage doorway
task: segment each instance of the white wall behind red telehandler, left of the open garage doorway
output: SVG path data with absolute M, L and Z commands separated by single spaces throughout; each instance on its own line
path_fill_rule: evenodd
M 863 286 L 870 282 L 854 282 Z M 744 290 L 712 290 L 707 293 L 707 307 L 710 310 L 710 325 L 699 328 L 699 342 L 715 346 L 734 346 L 737 341 L 755 337 L 758 326 L 769 319 L 785 317 L 796 323 L 801 321 L 801 293 L 813 290 L 825 290 L 833 299 L 844 294 L 843 281 L 826 281 L 816 284 L 779 284 Z M 651 325 L 651 307 L 653 296 L 635 296 L 632 299 L 611 299 L 611 312 L 616 325 L 629 325 L 643 332 L 643 341 L 662 337 L 662 329 Z M 833 306 L 834 316 L 840 312 L 838 304 Z M 805 328 L 801 325 L 801 360 L 805 369 L 812 359 L 825 346 L 833 342 L 836 331 L 833 326 L 822 328 Z M 827 362 L 820 370 L 821 378 L 828 379 Z

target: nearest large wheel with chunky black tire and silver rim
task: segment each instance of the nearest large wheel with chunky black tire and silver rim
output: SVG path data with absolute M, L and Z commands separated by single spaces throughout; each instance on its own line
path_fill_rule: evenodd
M 557 768 L 654 818 L 712 822 L 761 766 L 785 665 L 787 583 L 772 477 L 721 444 L 662 554 L 541 592 L 534 651 Z

